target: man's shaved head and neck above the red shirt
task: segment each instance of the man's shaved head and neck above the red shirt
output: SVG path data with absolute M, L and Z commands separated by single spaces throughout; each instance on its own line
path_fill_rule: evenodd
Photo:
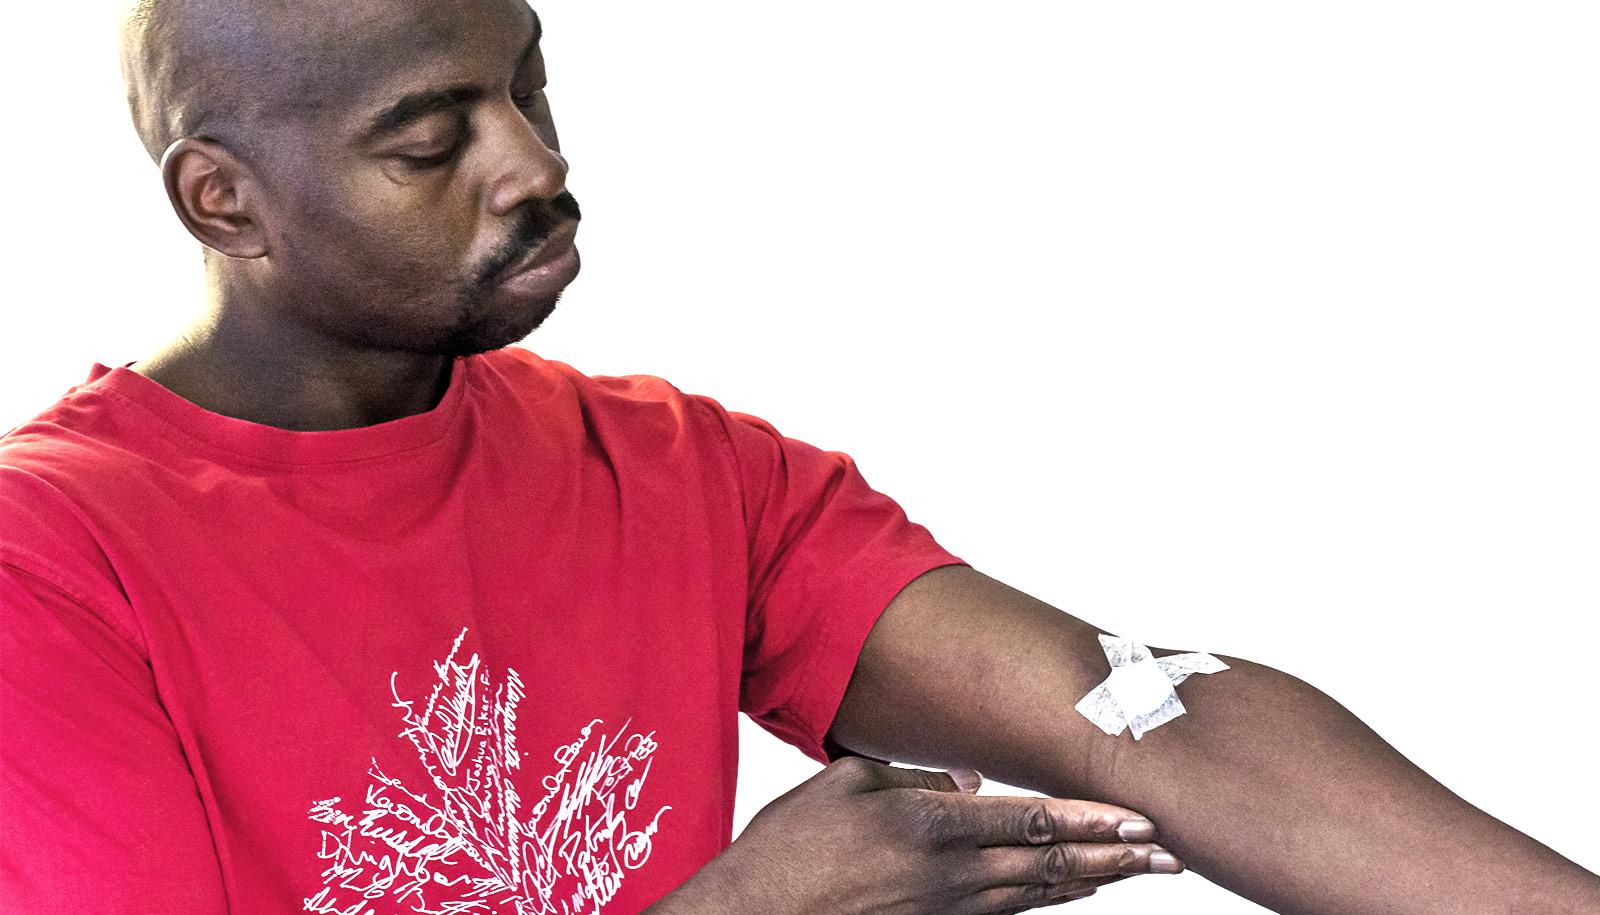
M 144 3 L 123 29 L 134 123 L 210 296 L 133 370 L 227 416 L 347 429 L 430 408 L 453 357 L 539 326 L 576 251 L 541 283 L 498 282 L 579 219 L 539 30 L 510 0 Z M 427 91 L 456 101 L 370 130 Z

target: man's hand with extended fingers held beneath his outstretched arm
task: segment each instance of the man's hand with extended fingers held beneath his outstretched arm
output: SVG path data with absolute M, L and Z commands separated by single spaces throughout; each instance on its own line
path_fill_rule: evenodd
M 648 912 L 1011 913 L 1082 899 L 1134 873 L 1182 870 L 1150 843 L 1155 825 L 1131 809 L 978 797 L 978 781 L 973 769 L 845 757 L 757 813 L 723 854 Z

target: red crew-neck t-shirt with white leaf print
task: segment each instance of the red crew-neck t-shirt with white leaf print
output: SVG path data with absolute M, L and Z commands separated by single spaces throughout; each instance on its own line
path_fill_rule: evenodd
M 291 432 L 96 365 L 0 438 L 6 912 L 629 913 L 962 563 L 854 462 L 509 347 Z

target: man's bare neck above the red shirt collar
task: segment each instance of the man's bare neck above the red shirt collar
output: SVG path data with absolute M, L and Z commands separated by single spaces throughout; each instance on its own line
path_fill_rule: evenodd
M 450 366 L 450 357 L 358 349 L 293 322 L 216 307 L 131 371 L 211 413 L 315 432 L 432 410 Z

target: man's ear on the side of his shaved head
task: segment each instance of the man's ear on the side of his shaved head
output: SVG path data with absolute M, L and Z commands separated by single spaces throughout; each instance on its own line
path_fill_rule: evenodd
M 250 166 L 222 144 L 186 136 L 162 155 L 166 198 L 189 234 L 229 258 L 261 258 L 267 234 Z

